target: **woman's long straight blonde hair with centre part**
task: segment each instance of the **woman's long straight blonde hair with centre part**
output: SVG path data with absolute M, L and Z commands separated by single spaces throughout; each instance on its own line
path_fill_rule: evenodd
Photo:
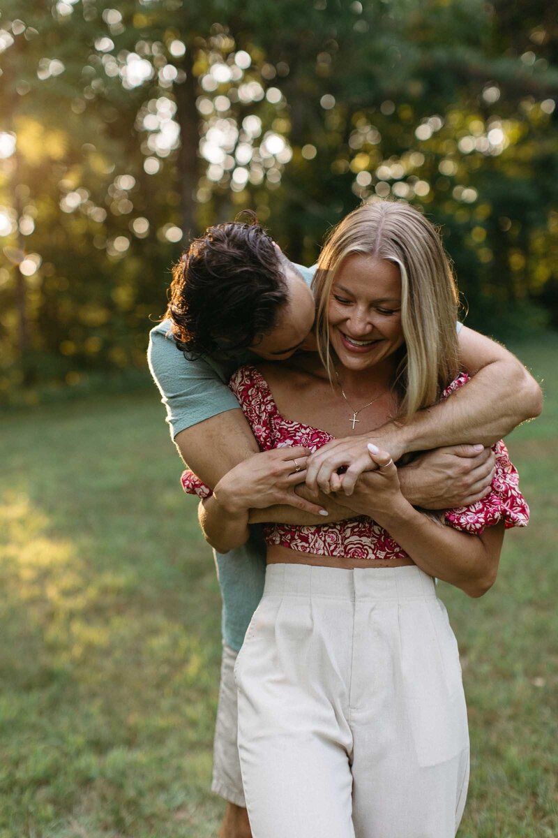
M 435 404 L 458 373 L 458 292 L 448 257 L 438 230 L 403 202 L 362 204 L 330 231 L 312 283 L 318 350 L 330 379 L 331 286 L 341 263 L 351 254 L 387 259 L 399 266 L 405 343 L 394 385 L 400 399 L 399 416 L 408 419 L 422 407 Z

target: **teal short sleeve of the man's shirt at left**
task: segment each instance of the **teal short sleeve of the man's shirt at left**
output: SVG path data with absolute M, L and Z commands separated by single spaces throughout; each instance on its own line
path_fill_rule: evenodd
M 198 422 L 238 408 L 217 370 L 202 358 L 185 358 L 160 327 L 151 330 L 147 360 L 166 407 L 172 438 Z

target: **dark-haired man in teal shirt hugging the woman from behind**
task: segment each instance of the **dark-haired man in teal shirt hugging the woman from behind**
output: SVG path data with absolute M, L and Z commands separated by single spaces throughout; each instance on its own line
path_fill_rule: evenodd
M 149 360 L 184 461 L 204 483 L 215 486 L 231 468 L 253 457 L 261 487 L 259 508 L 250 515 L 254 524 L 315 524 L 325 520 L 321 514 L 328 521 L 346 517 L 327 494 L 330 475 L 347 466 L 343 489 L 350 493 L 358 474 L 370 468 L 367 442 L 386 448 L 396 460 L 427 452 L 399 472 L 403 493 L 414 505 L 439 509 L 482 497 L 493 466 L 489 446 L 540 412 L 540 390 L 519 361 L 468 328 L 460 328 L 459 347 L 463 368 L 474 378 L 402 427 L 388 423 L 372 438 L 336 440 L 320 449 L 310 458 L 310 488 L 295 491 L 292 481 L 277 477 L 284 473 L 279 468 L 284 449 L 258 453 L 226 382 L 254 357 L 280 361 L 297 349 L 310 349 L 310 275 L 251 224 L 209 228 L 182 257 L 171 284 L 169 319 L 151 331 Z M 295 459 L 303 452 L 290 453 Z M 263 590 L 264 548 L 257 528 L 248 544 L 216 559 L 223 592 L 223 666 L 212 789 L 228 801 L 223 838 L 245 838 L 250 832 L 236 749 L 232 670 Z

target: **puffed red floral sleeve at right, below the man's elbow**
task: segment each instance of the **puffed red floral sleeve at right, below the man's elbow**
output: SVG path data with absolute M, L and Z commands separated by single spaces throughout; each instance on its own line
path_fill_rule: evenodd
M 479 535 L 485 527 L 494 526 L 501 520 L 506 530 L 529 523 L 529 506 L 520 492 L 520 476 L 509 459 L 508 449 L 500 440 L 492 450 L 496 454 L 496 465 L 490 493 L 470 506 L 445 512 L 446 523 L 455 530 Z

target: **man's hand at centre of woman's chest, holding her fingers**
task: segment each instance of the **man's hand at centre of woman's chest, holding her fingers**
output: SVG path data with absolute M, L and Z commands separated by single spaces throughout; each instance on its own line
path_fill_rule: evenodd
M 306 473 L 308 488 L 313 492 L 321 489 L 325 494 L 341 491 L 351 495 L 361 473 L 377 468 L 366 447 L 369 442 L 389 451 L 394 462 L 404 453 L 395 435 L 388 439 L 371 432 L 360 437 L 334 439 L 310 455 Z M 341 467 L 346 467 L 346 472 L 339 475 L 337 469 Z

